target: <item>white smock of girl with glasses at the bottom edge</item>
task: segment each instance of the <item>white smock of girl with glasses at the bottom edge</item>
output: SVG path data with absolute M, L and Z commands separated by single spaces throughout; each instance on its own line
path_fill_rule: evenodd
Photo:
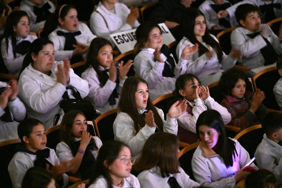
M 120 188 L 120 187 L 117 187 L 115 185 L 113 185 L 113 188 Z M 94 182 L 93 184 L 91 184 L 89 186 L 89 188 L 107 188 L 108 187 L 108 184 L 107 184 L 107 180 L 106 178 L 104 178 L 103 175 L 99 176 Z M 123 184 L 122 184 L 122 187 L 121 188 L 140 188 L 140 184 L 139 184 L 139 181 L 138 179 L 130 174 L 129 177 L 127 178 L 123 178 Z

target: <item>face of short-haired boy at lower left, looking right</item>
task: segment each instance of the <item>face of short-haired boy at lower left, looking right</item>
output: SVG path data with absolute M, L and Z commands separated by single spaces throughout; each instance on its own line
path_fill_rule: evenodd
M 47 143 L 44 126 L 42 124 L 34 126 L 29 137 L 26 138 L 25 143 L 27 149 L 30 151 L 44 150 Z

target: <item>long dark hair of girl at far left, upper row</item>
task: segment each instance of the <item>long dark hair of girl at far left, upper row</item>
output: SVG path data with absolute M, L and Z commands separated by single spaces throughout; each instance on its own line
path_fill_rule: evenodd
M 23 16 L 26 16 L 29 21 L 29 18 L 25 11 L 22 11 L 22 10 L 13 11 L 7 17 L 6 24 L 5 24 L 4 36 L 5 36 L 5 42 L 6 42 L 6 50 L 8 53 L 8 47 L 9 47 L 8 37 L 11 36 L 14 58 L 16 58 L 15 48 L 17 45 L 17 39 L 16 39 L 17 33 L 14 31 L 14 27 L 17 27 L 19 21 L 21 20 Z

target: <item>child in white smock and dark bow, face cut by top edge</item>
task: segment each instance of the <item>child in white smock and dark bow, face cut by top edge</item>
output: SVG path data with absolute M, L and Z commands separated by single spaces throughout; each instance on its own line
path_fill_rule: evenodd
M 206 25 L 209 30 L 223 30 L 234 27 L 234 20 L 232 22 L 232 20 L 226 20 L 226 18 L 218 19 L 216 14 L 220 10 L 225 10 L 230 6 L 230 2 L 226 0 L 206 0 L 198 7 L 198 9 L 204 13 Z

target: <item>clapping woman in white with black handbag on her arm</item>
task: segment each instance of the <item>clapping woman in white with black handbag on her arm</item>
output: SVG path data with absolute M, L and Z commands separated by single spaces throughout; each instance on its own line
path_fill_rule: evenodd
M 26 105 L 27 117 L 39 119 L 45 129 L 60 123 L 64 113 L 59 103 L 67 86 L 75 87 L 82 98 L 89 93 L 87 81 L 73 72 L 69 61 L 55 61 L 54 53 L 48 39 L 33 41 L 19 78 L 19 96 Z

